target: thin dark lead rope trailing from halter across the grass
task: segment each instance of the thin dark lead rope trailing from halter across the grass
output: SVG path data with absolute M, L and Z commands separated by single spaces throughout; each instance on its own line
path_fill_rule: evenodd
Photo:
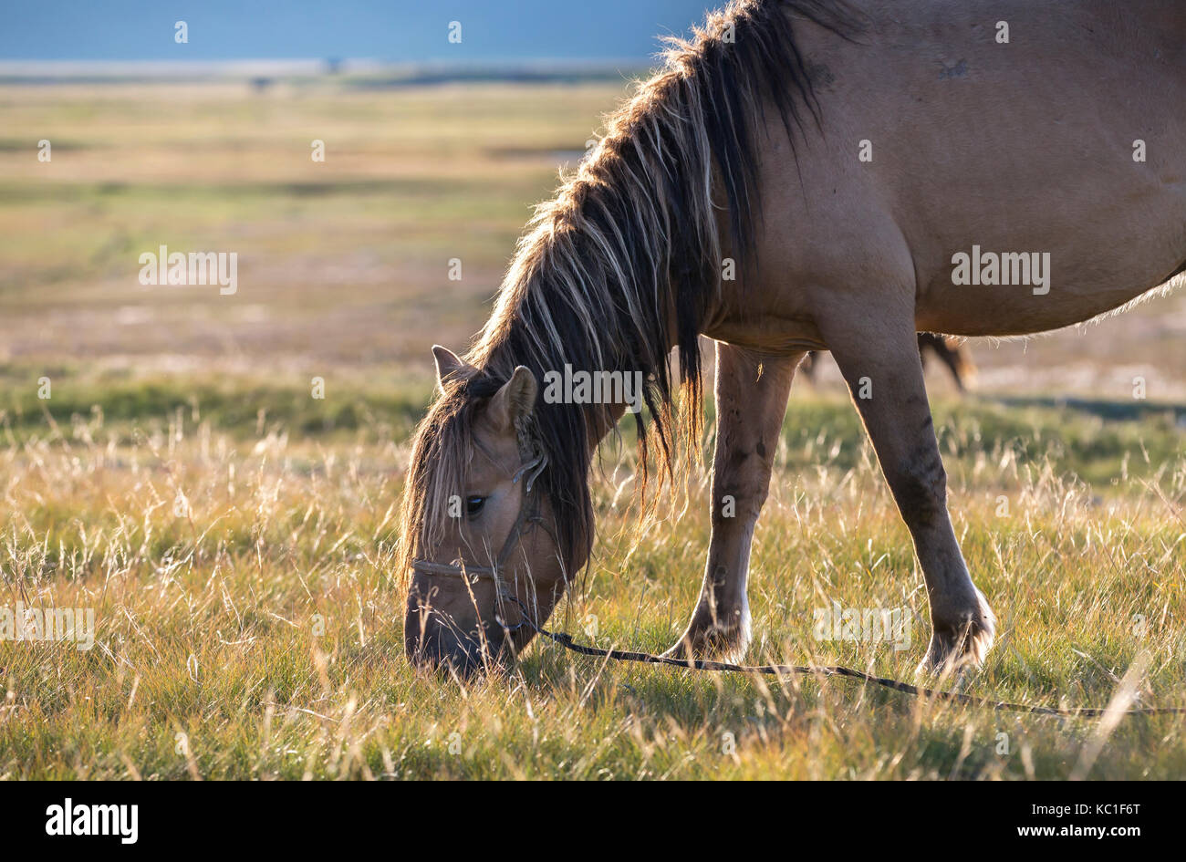
M 949 701 L 952 703 L 963 703 L 969 707 L 977 707 L 981 709 L 995 709 L 1002 713 L 1031 713 L 1033 715 L 1058 715 L 1063 717 L 1079 717 L 1079 719 L 1097 719 L 1102 715 L 1109 713 L 1107 708 L 1099 707 L 1080 707 L 1076 709 L 1059 709 L 1057 707 L 1032 707 L 1027 703 L 1009 703 L 1008 701 L 994 701 L 989 697 L 977 697 L 975 695 L 964 695 L 958 691 L 937 691 L 935 689 L 927 689 L 922 685 L 911 685 L 910 683 L 899 682 L 897 679 L 891 679 L 888 677 L 873 676 L 872 673 L 866 673 L 861 670 L 853 670 L 852 668 L 843 668 L 841 665 L 793 665 L 793 664 L 732 664 L 729 662 L 708 662 L 703 659 L 681 659 L 681 658 L 668 658 L 665 656 L 655 656 L 650 652 L 631 652 L 627 650 L 602 650 L 599 646 L 586 646 L 585 644 L 578 644 L 573 640 L 570 634 L 565 634 L 562 632 L 549 632 L 543 626 L 536 625 L 531 614 L 523 606 L 523 602 L 518 600 L 517 596 L 510 593 L 503 592 L 505 599 L 510 599 L 519 607 L 519 613 L 522 620 L 515 628 L 521 625 L 525 625 L 531 628 L 536 634 L 542 634 L 546 638 L 560 644 L 566 650 L 570 650 L 581 656 L 592 656 L 594 658 L 606 658 L 613 659 L 614 662 L 638 662 L 643 664 L 664 664 L 670 668 L 683 668 L 684 670 L 702 670 L 702 671 L 723 671 L 728 673 L 764 673 L 766 676 L 839 676 L 847 677 L 849 679 L 860 679 L 866 683 L 874 683 L 875 685 L 881 685 L 882 688 L 893 689 L 894 691 L 901 691 L 911 697 L 926 697 L 938 701 Z M 1136 709 L 1126 709 L 1122 715 L 1182 715 L 1186 714 L 1186 707 L 1140 707 Z

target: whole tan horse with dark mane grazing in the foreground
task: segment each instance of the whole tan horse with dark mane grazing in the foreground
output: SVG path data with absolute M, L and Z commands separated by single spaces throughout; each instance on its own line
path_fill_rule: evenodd
M 648 460 L 670 475 L 699 447 L 707 336 L 712 539 L 669 655 L 746 647 L 788 390 L 829 350 L 926 582 L 920 666 L 976 665 L 995 621 L 951 525 L 916 333 L 1067 326 L 1184 269 L 1178 0 L 733 2 L 536 210 L 472 350 L 434 349 L 402 511 L 408 656 L 468 672 L 524 647 L 522 614 L 547 619 L 588 560 L 591 462 L 623 414 L 646 429 L 644 486 Z

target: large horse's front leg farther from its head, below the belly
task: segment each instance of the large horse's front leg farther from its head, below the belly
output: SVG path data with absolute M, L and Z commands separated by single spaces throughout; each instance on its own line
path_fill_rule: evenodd
M 995 620 L 968 575 L 948 513 L 946 473 L 923 383 L 914 321 L 906 308 L 846 309 L 821 330 L 840 365 L 914 539 L 933 633 L 924 668 L 978 665 Z

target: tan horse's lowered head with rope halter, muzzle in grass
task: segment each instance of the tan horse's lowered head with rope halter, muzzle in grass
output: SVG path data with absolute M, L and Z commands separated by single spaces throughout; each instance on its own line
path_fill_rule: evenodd
M 525 366 L 498 379 L 434 347 L 441 396 L 412 452 L 403 506 L 410 577 L 404 644 L 420 665 L 461 676 L 514 659 L 563 593 L 538 391 Z

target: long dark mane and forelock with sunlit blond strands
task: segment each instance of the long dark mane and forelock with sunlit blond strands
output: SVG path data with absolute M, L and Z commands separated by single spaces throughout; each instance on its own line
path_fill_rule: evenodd
M 663 477 L 677 453 L 699 454 L 699 333 L 720 289 L 722 257 L 741 273 L 753 254 L 759 129 L 777 111 L 793 142 L 797 127 L 818 121 L 796 18 L 842 36 L 854 26 L 827 0 L 734 0 L 691 39 L 668 40 L 663 68 L 636 85 L 594 151 L 536 207 L 466 356 L 473 369 L 447 382 L 415 434 L 404 563 L 439 537 L 448 496 L 464 493 L 473 419 L 517 365 L 535 373 L 541 396 L 543 375 L 566 365 L 640 372 L 640 487 L 651 460 Z M 592 545 L 592 451 L 613 419 L 606 404 L 540 397 L 522 429 L 549 459 L 541 481 L 566 564 L 585 560 Z

